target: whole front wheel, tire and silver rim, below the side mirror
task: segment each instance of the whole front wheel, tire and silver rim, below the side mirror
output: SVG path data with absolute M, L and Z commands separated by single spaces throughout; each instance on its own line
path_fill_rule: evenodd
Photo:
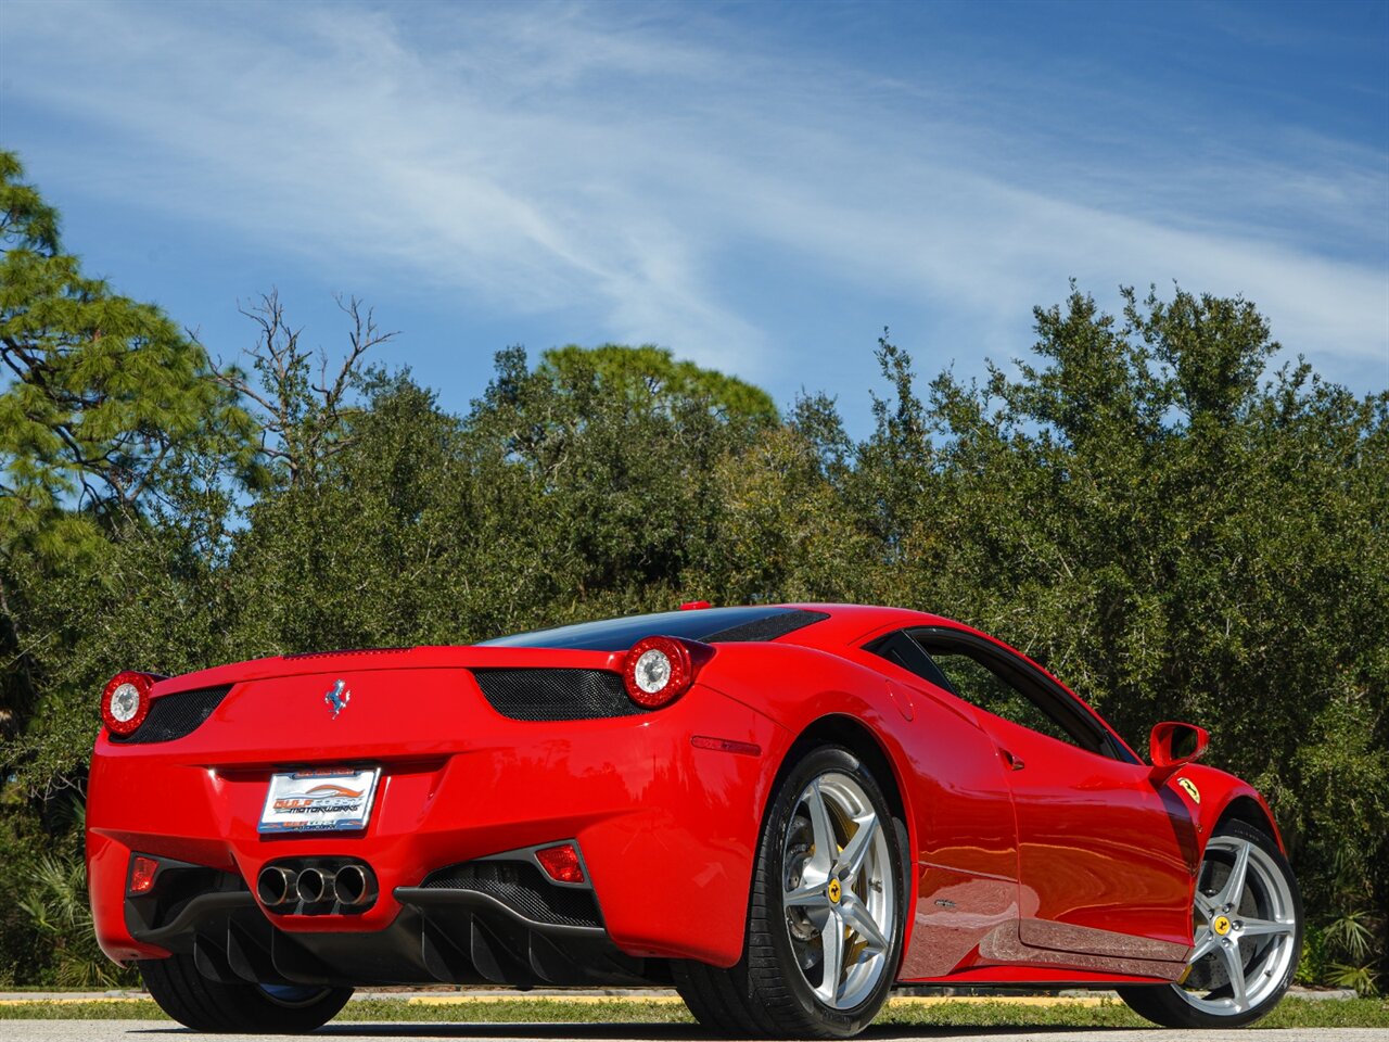
M 1264 832 L 1243 821 L 1215 829 L 1196 878 L 1192 934 L 1181 981 L 1118 989 L 1135 1013 L 1170 1028 L 1232 1028 L 1278 1004 L 1297 970 L 1301 898 Z

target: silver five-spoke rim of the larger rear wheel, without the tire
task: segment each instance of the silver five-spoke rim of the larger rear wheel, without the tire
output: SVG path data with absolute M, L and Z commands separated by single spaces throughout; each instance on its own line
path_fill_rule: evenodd
M 782 907 L 796 963 L 815 996 L 853 1009 L 888 971 L 897 885 L 872 802 L 847 774 L 829 771 L 796 800 Z

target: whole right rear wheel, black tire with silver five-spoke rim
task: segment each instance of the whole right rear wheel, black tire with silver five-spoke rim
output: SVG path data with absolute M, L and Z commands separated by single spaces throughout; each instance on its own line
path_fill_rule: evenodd
M 901 957 L 900 827 L 849 750 L 810 752 L 772 797 L 743 957 L 676 963 L 681 996 L 724 1034 L 850 1038 L 882 1009 Z

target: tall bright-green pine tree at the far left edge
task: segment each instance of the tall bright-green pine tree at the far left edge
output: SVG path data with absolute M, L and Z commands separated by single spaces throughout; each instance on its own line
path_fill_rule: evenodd
M 82 274 L 58 217 L 0 153 L 0 734 L 53 689 L 64 618 L 46 586 L 92 581 L 113 532 L 186 492 L 197 440 L 244 414 L 206 353 L 163 311 Z M 96 572 L 99 574 L 99 572 Z M 61 670 L 58 675 L 61 675 Z M 61 681 L 60 681 L 61 682 Z

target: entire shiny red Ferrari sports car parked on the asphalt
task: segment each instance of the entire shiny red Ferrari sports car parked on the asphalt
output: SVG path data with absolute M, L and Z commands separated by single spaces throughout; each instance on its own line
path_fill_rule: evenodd
M 101 948 L 204 1031 L 353 986 L 674 985 L 729 1034 L 846 1038 L 895 982 L 1118 988 L 1168 1025 L 1286 989 L 1268 807 L 1158 724 L 1145 764 L 1006 645 L 845 604 L 288 654 L 101 703 Z

